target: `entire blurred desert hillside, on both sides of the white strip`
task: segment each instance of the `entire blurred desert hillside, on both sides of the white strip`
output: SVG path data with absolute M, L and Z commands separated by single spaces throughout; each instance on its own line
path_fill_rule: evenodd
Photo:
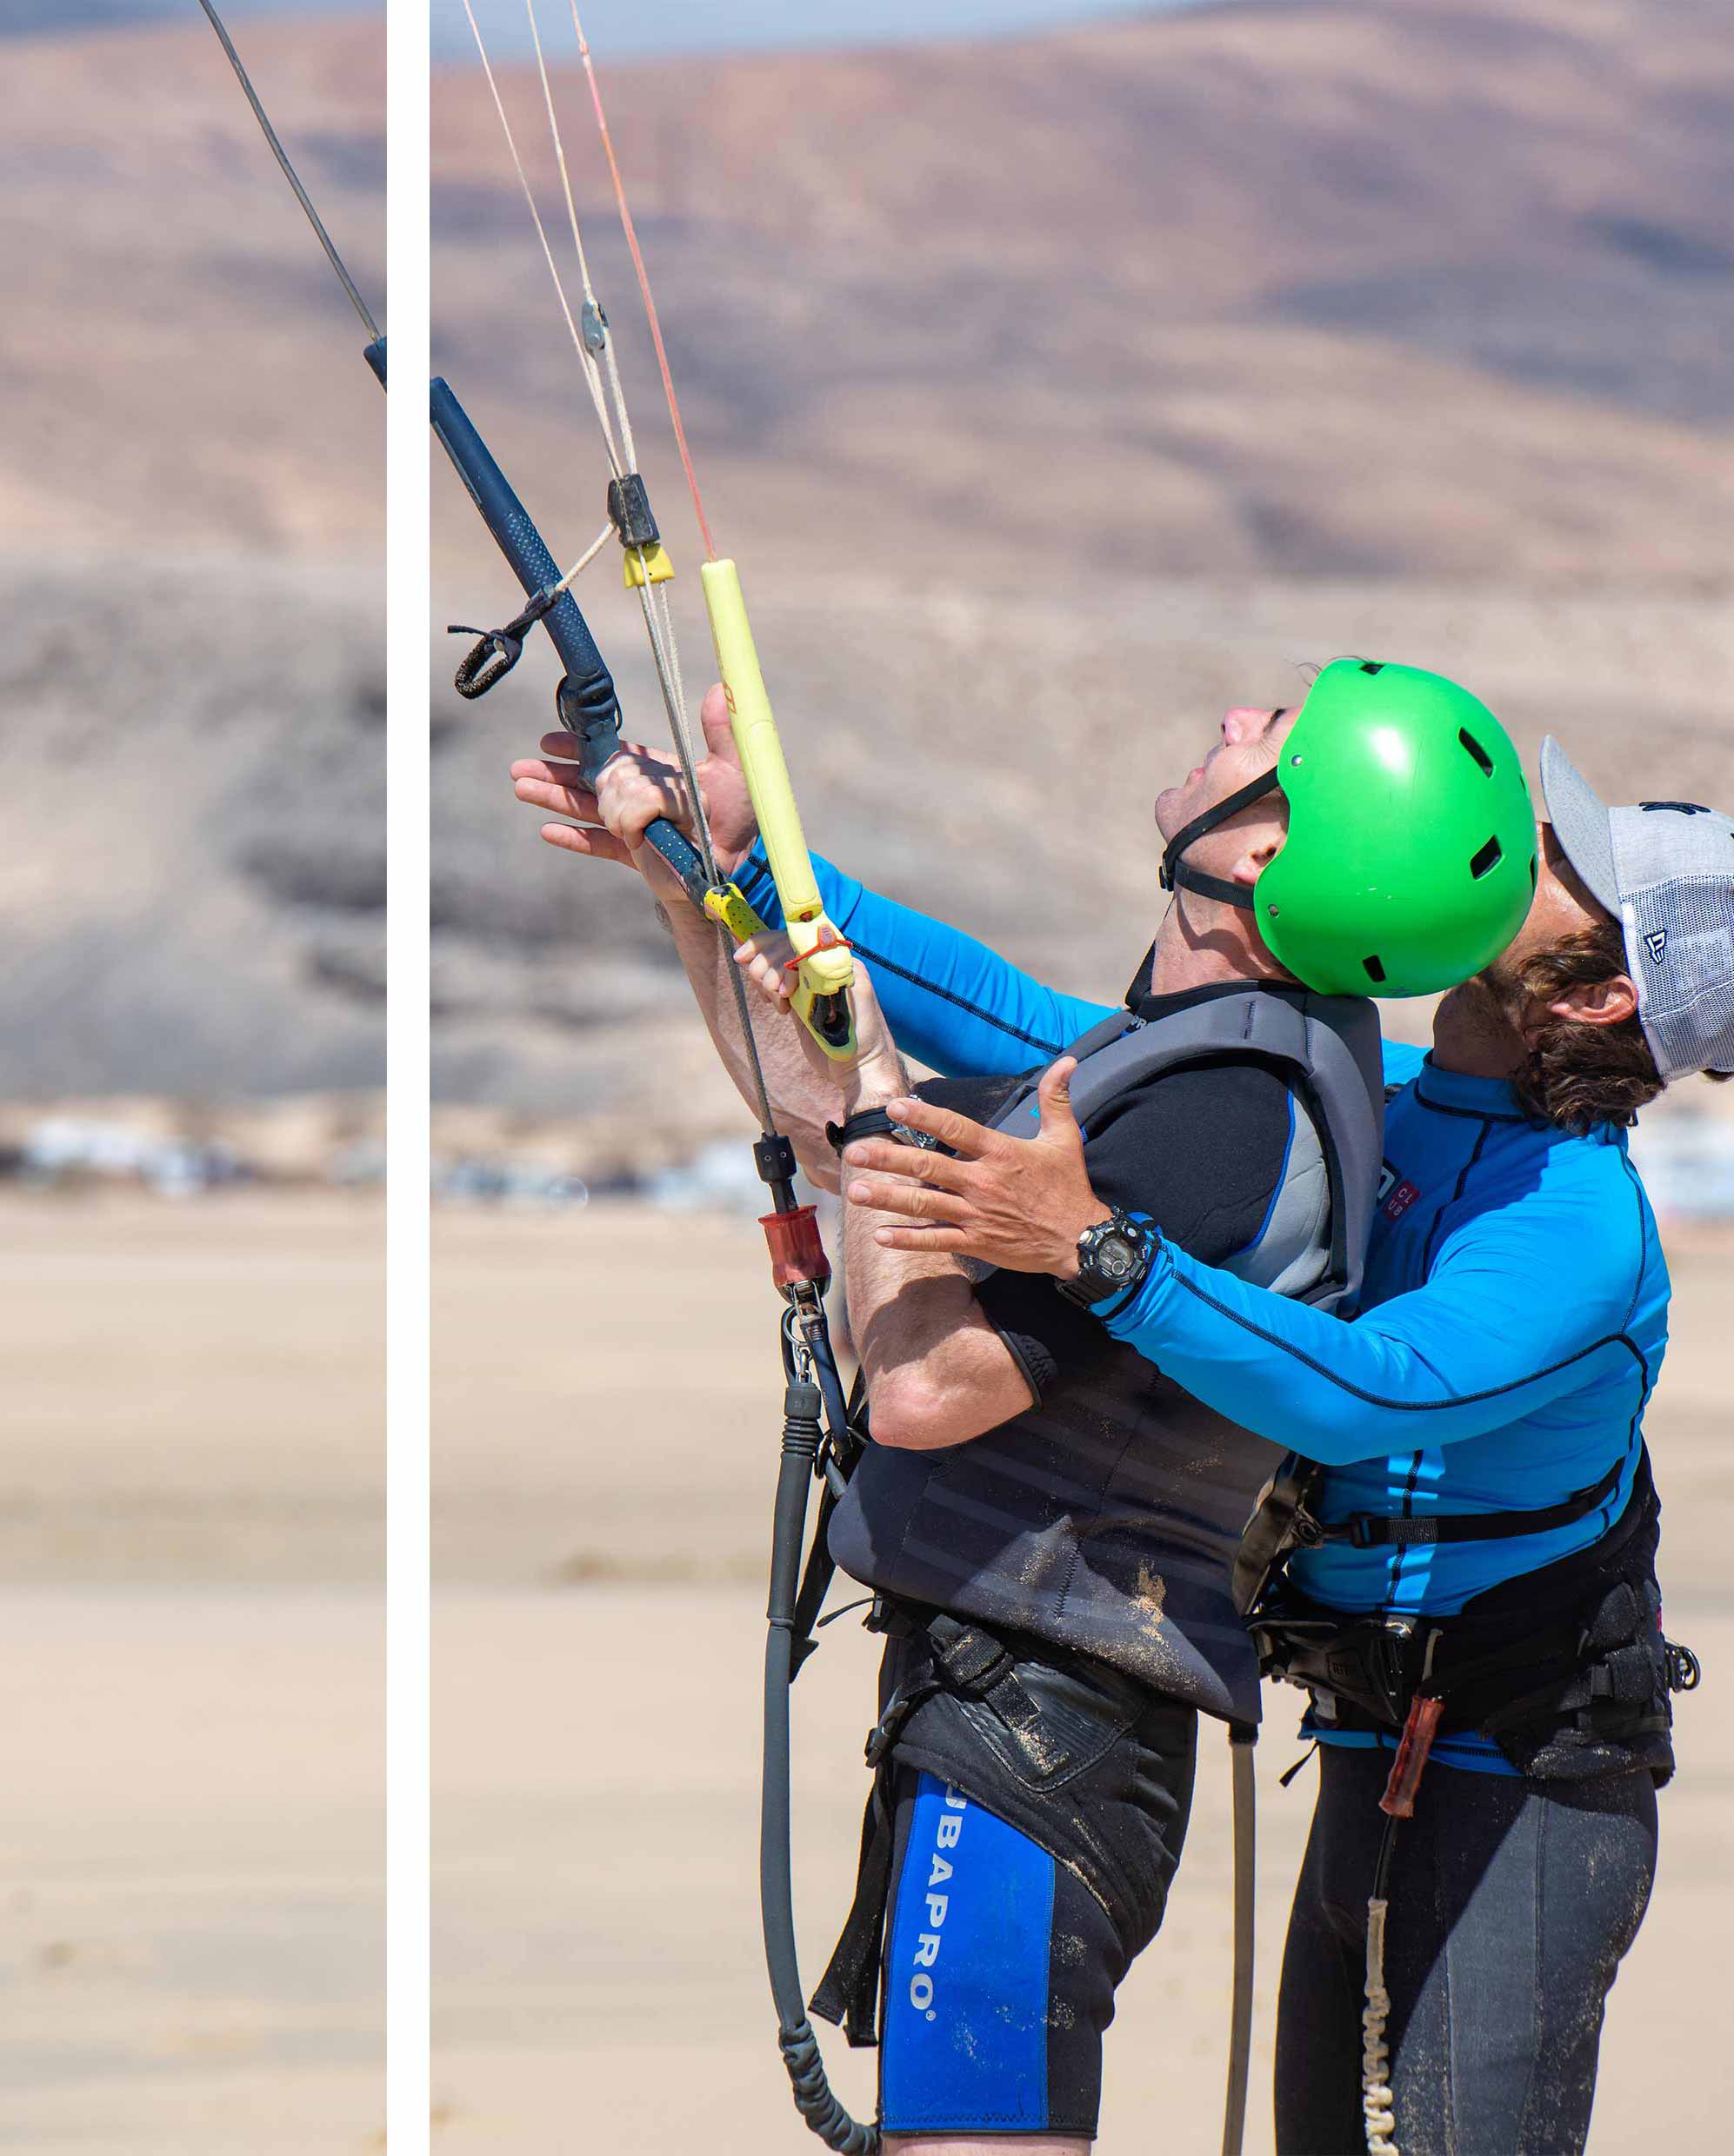
M 6 1091 L 371 1082 L 382 412 L 188 17 L 4 47 Z M 559 17 L 597 282 L 690 571 Z M 815 845 L 1117 994 L 1154 787 L 1223 701 L 1292 701 L 1303 660 L 1456 668 L 1613 793 L 1734 791 L 1723 30 L 1693 0 L 1268 0 L 610 67 Z M 377 26 L 237 37 L 384 319 Z M 554 211 L 535 80 L 503 84 Z M 572 558 L 602 459 L 474 67 L 438 73 L 434 125 L 436 364 Z M 446 470 L 434 507 L 436 627 L 505 617 Z M 584 597 L 658 731 L 606 561 Z M 509 800 L 548 662 L 470 707 L 444 638 L 434 660 L 442 1095 L 735 1128 L 641 895 Z

